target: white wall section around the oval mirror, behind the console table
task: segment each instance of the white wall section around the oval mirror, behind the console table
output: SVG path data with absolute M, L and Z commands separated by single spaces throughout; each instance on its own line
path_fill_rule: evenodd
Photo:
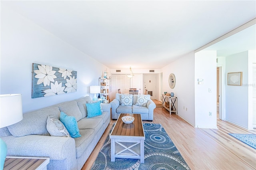
M 168 83 L 170 73 L 174 73 L 176 85 L 171 89 Z M 162 94 L 173 92 L 178 98 L 178 115 L 195 126 L 194 107 L 194 52 L 180 57 L 162 68 Z M 185 108 L 185 109 L 184 109 Z M 187 108 L 187 111 L 186 111 Z

